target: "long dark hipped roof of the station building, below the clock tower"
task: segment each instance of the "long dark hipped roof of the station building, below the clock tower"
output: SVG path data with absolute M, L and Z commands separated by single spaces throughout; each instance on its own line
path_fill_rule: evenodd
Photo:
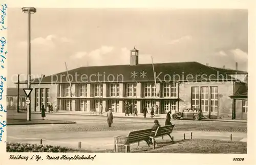
M 155 63 L 154 69 L 158 82 L 163 81 L 224 81 L 234 78 L 212 67 L 198 62 Z M 218 72 L 219 71 L 219 72 Z M 68 70 L 70 81 L 75 82 L 154 82 L 152 64 L 88 66 Z M 133 75 L 133 73 L 135 75 Z M 143 75 L 144 73 L 144 75 Z M 99 76 L 97 76 L 99 75 Z M 223 76 L 222 76 L 223 75 Z M 109 77 L 109 79 L 108 79 Z M 41 82 L 40 82 L 41 81 Z M 67 72 L 61 72 L 44 78 L 33 79 L 31 84 L 68 83 Z M 27 83 L 26 81 L 20 83 Z

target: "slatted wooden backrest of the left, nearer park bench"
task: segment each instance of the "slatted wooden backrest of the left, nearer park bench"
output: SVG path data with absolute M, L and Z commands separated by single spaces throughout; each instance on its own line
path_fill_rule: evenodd
M 151 134 L 151 131 L 152 129 L 144 129 L 130 132 L 126 144 L 132 144 L 148 139 L 148 137 Z

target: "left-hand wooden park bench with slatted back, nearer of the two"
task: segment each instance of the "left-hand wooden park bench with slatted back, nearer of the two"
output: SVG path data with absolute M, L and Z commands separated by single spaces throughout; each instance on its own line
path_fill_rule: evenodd
M 118 145 L 125 146 L 125 152 L 130 152 L 130 144 L 139 143 L 141 141 L 147 142 L 148 137 L 150 137 L 150 134 L 152 132 L 152 129 L 145 129 L 145 130 L 138 130 L 138 131 L 132 131 L 129 133 L 128 136 L 116 136 L 115 137 L 115 143 L 114 143 L 114 149 L 115 152 L 118 152 Z M 147 144 L 148 147 L 150 147 L 149 144 Z

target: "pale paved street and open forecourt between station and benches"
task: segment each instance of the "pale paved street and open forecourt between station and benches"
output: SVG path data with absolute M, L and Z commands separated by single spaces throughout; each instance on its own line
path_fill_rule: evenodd
M 13 117 L 13 116 L 12 116 Z M 26 114 L 16 114 L 16 117 L 25 117 Z M 32 119 L 40 119 L 40 114 L 32 114 Z M 48 124 L 48 125 L 17 125 L 8 126 L 8 142 L 39 143 L 43 139 L 44 144 L 61 145 L 77 148 L 78 142 L 82 142 L 82 149 L 99 151 L 113 149 L 114 136 L 127 135 L 132 130 L 150 128 L 154 119 L 114 119 L 113 127 L 109 128 L 106 117 L 103 116 L 80 116 L 80 115 L 47 115 L 49 120 L 74 121 L 76 124 Z M 159 119 L 161 125 L 165 120 Z M 214 122 L 214 121 L 173 121 L 175 140 L 190 138 L 222 139 L 240 141 L 247 138 L 247 123 Z M 209 132 L 210 131 L 210 132 Z M 166 136 L 165 140 L 169 140 Z M 162 140 L 159 138 L 158 140 Z M 144 142 L 141 145 L 145 145 Z M 134 146 L 136 147 L 136 145 Z M 133 148 L 133 146 L 132 146 Z

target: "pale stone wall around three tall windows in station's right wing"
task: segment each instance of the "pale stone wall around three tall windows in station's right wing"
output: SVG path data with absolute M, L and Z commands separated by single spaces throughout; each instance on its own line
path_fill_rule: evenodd
M 191 108 L 191 87 L 218 87 L 218 111 L 203 112 L 204 115 L 210 115 L 211 118 L 231 119 L 232 118 L 232 99 L 229 98 L 233 94 L 233 82 L 184 82 L 179 84 L 179 111 L 184 108 Z M 199 91 L 201 97 L 201 91 Z M 210 96 L 209 96 L 210 97 Z M 199 107 L 201 107 L 201 98 L 199 99 Z M 208 99 L 210 100 L 210 99 Z

